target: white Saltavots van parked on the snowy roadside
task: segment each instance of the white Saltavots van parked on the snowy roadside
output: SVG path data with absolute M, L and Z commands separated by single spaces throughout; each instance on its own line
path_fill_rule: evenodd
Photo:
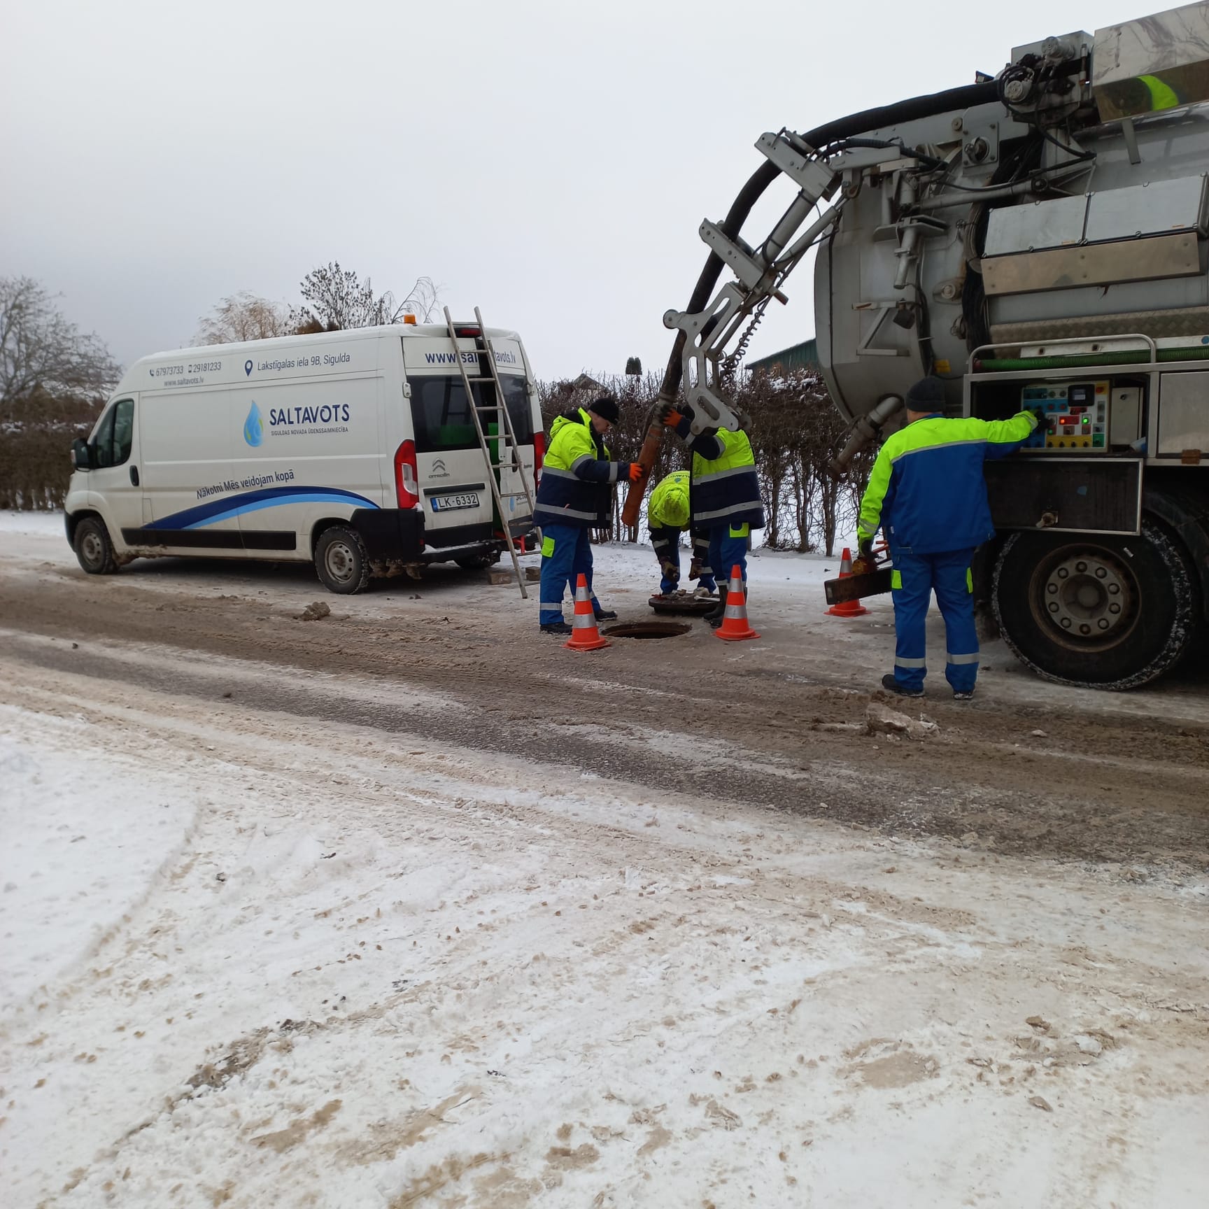
M 520 473 L 496 515 L 458 369 L 486 376 L 476 324 L 409 324 L 157 353 L 122 377 L 74 446 L 65 503 L 80 566 L 137 557 L 313 561 L 334 592 L 426 562 L 494 562 L 503 525 L 532 548 Z M 520 336 L 487 329 L 520 461 L 536 493 L 544 438 Z M 496 406 L 490 382 L 474 383 Z M 502 418 L 480 411 L 484 429 Z M 492 461 L 502 461 L 494 441 Z M 520 493 L 519 498 L 509 492 Z

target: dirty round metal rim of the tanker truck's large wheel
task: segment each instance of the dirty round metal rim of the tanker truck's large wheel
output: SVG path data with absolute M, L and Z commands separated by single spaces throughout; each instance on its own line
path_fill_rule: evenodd
M 1105 550 L 1059 551 L 1037 568 L 1040 612 L 1051 634 L 1088 648 L 1120 642 L 1136 620 L 1129 569 Z

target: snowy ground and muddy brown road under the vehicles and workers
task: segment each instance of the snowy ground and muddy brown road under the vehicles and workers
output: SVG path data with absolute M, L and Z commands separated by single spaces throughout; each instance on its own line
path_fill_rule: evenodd
M 751 567 L 579 654 L 0 516 L 5 1204 L 1202 1205 L 1204 675 L 903 711 L 889 601 Z

